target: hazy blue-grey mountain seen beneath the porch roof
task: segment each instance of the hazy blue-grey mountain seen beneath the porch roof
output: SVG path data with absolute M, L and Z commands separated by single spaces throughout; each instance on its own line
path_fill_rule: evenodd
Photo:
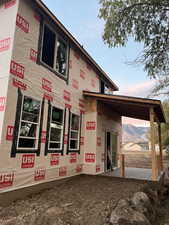
M 148 141 L 147 133 L 149 131 L 149 127 L 136 127 L 131 124 L 123 124 L 122 128 L 123 143 Z

